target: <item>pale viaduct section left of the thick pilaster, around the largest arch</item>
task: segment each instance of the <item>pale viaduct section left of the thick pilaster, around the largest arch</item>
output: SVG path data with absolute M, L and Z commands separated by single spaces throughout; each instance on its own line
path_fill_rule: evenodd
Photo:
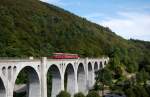
M 29 74 L 29 79 L 30 79 L 29 84 L 28 84 L 29 90 L 28 90 L 27 97 L 34 97 L 34 96 L 41 97 L 40 61 L 31 61 L 28 59 L 27 60 L 26 59 L 0 60 L 0 77 L 5 84 L 4 86 L 6 89 L 6 97 L 13 97 L 14 91 L 17 90 L 16 89 L 17 85 L 15 84 L 15 81 L 17 79 L 17 76 L 23 69 L 28 69 L 28 74 Z M 34 75 L 36 73 L 37 73 L 37 76 Z M 38 83 L 36 82 L 37 78 L 39 78 Z M 35 88 L 36 90 L 34 90 Z

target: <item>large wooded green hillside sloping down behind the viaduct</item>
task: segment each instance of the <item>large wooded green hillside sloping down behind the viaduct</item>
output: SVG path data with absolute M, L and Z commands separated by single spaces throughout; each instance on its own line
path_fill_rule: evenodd
M 109 28 L 39 0 L 0 0 L 0 57 L 40 57 L 52 52 L 114 57 L 118 52 L 123 64 L 139 64 L 150 56 L 149 45 L 125 40 Z

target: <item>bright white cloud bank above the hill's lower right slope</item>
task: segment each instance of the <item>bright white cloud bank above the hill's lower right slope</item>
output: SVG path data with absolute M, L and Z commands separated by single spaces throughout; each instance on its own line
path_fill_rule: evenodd
M 122 18 L 109 18 L 98 23 L 129 39 L 150 41 L 150 14 L 119 12 Z

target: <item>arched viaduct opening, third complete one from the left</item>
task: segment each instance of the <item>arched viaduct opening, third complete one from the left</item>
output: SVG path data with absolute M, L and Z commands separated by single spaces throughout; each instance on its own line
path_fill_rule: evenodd
M 75 72 L 72 64 L 68 64 L 65 71 L 65 90 L 72 96 L 75 94 Z

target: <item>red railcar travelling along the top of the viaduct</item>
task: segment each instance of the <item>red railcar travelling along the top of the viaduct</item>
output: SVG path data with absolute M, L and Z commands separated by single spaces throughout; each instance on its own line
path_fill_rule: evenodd
M 53 59 L 77 59 L 80 58 L 78 54 L 69 53 L 53 53 Z

